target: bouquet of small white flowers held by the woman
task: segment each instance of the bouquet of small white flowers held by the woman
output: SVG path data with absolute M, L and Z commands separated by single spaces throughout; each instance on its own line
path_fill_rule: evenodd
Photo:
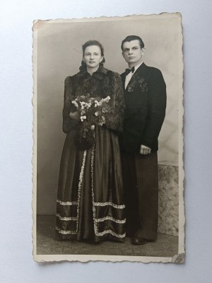
M 76 107 L 80 115 L 81 127 L 76 136 L 76 144 L 79 149 L 90 149 L 95 142 L 95 127 L 102 126 L 106 122 L 105 114 L 110 112 L 110 96 L 106 98 L 79 96 L 71 103 Z

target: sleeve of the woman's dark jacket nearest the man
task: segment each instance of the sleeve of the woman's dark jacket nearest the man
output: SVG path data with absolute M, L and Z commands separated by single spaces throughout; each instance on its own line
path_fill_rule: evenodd
M 124 121 L 124 91 L 119 74 L 112 72 L 112 93 L 110 94 L 110 112 L 106 115 L 105 126 L 117 132 L 122 132 Z

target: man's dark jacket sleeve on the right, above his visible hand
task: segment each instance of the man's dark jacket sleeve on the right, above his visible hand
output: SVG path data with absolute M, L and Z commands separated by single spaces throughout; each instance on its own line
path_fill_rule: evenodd
M 154 69 L 148 83 L 148 119 L 141 144 L 152 148 L 158 139 L 165 118 L 166 86 L 160 70 Z

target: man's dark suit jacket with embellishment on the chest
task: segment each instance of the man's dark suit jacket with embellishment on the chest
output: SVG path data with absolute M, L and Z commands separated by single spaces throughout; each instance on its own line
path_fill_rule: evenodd
M 124 86 L 126 73 L 121 77 Z M 158 151 L 158 135 L 166 108 L 166 86 L 161 71 L 141 64 L 124 91 L 124 99 L 122 151 L 139 152 L 141 144 Z

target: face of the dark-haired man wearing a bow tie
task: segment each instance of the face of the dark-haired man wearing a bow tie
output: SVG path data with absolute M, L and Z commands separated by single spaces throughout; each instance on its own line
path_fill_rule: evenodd
M 131 40 L 124 42 L 122 55 L 129 67 L 136 67 L 142 62 L 143 48 L 139 44 L 139 40 Z

